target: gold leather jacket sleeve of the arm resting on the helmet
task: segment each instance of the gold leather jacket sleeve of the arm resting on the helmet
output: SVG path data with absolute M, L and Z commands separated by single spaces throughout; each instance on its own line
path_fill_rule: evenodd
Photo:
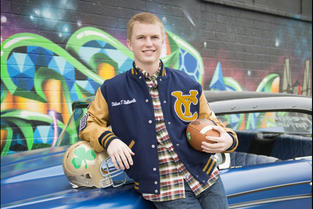
M 106 100 L 104 99 L 100 88 L 97 90 L 94 100 L 90 103 L 87 109 L 87 125 L 80 131 L 79 137 L 90 141 L 94 151 L 102 152 L 105 148 L 99 143 L 101 135 L 110 131 L 110 116 Z

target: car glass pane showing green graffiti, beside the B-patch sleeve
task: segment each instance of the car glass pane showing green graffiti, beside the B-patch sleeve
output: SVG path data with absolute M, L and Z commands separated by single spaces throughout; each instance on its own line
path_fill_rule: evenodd
M 78 137 L 80 119 L 86 114 L 87 108 L 77 108 L 72 113 L 55 146 L 67 146 L 81 140 Z

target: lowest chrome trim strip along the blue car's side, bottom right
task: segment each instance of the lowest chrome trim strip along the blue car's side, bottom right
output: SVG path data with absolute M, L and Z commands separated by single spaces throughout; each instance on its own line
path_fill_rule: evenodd
M 311 194 L 288 196 L 288 197 L 271 198 L 271 199 L 265 199 L 265 200 L 256 200 L 256 201 L 245 202 L 245 203 L 237 203 L 237 204 L 228 205 L 228 207 L 229 207 L 229 209 L 236 209 L 236 208 L 242 208 L 242 207 L 247 207 L 247 206 L 254 206 L 254 205 L 280 202 L 280 201 L 287 201 L 287 200 L 304 199 L 304 198 L 312 198 L 312 193 Z

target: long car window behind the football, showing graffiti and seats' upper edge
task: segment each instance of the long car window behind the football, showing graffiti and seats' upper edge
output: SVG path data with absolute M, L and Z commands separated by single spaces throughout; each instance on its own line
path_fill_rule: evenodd
M 312 135 L 312 116 L 303 113 L 266 112 L 217 116 L 226 127 L 272 133 Z

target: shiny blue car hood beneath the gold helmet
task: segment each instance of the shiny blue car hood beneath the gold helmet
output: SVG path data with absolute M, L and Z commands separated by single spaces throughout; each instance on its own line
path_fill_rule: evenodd
M 62 167 L 66 150 L 53 147 L 2 156 L 1 208 L 154 207 L 130 181 L 116 188 L 72 188 Z

